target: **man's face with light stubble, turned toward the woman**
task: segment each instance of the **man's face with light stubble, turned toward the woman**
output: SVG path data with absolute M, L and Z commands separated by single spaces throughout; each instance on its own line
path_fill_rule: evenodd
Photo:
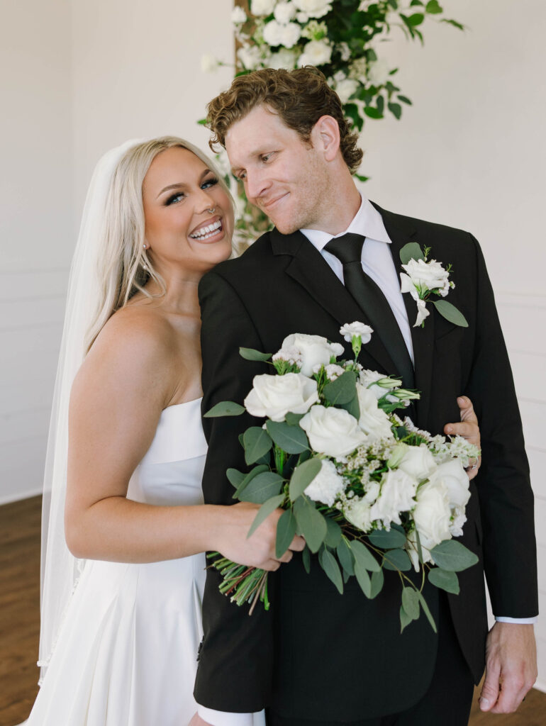
M 317 144 L 303 142 L 277 113 L 254 108 L 230 127 L 226 150 L 232 171 L 245 184 L 250 203 L 282 234 L 321 229 L 328 187 Z

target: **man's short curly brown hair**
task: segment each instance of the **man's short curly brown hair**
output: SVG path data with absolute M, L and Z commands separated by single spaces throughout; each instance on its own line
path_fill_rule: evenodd
M 216 144 L 225 147 L 229 128 L 261 104 L 278 113 L 303 142 L 309 142 L 311 129 L 321 116 L 333 116 L 338 122 L 346 165 L 351 174 L 359 167 L 362 149 L 356 145 L 358 134 L 343 116 L 338 94 L 328 86 L 324 74 L 311 65 L 296 70 L 262 68 L 237 76 L 229 89 L 207 106 L 206 126 L 213 132 L 208 142 L 211 150 L 215 151 Z

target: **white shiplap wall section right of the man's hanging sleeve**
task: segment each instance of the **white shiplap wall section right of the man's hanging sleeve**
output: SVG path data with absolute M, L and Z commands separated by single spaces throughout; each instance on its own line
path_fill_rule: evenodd
M 505 333 L 535 495 L 539 566 L 539 610 L 546 612 L 546 295 L 498 293 L 497 309 Z M 521 563 L 525 567 L 525 563 Z M 539 658 L 537 688 L 546 691 L 546 621 L 536 627 Z

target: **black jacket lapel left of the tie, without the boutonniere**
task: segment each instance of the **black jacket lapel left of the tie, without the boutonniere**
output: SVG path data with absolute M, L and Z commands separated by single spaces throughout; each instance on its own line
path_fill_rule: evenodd
M 352 295 L 305 235 L 301 232 L 281 234 L 277 229 L 269 234 L 274 255 L 288 255 L 292 258 L 285 269 L 286 274 L 298 282 L 340 326 L 354 320 L 370 325 Z M 374 365 L 379 365 L 382 371 L 396 372 L 391 356 L 378 335 L 372 335 L 370 343 L 363 346 L 362 353 L 370 356 L 375 361 Z

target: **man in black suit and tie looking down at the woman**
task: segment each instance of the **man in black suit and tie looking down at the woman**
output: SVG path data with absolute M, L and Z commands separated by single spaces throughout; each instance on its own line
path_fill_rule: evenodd
M 249 617 L 248 608 L 219 593 L 219 575 L 209 571 L 195 685 L 200 718 L 243 726 L 251 712 L 266 708 L 273 726 L 459 726 L 468 720 L 485 661 L 481 708 L 516 709 L 536 677 L 533 498 L 478 242 L 468 232 L 400 216 L 361 197 L 351 176 L 362 158 L 356 135 L 314 69 L 236 78 L 209 105 L 208 125 L 248 199 L 275 227 L 200 283 L 203 411 L 217 401 L 243 401 L 253 376 L 266 372 L 264 364 L 243 361 L 240 346 L 276 351 L 289 333 L 340 340 L 340 325 L 360 320 L 375 333 L 359 361 L 402 375 L 422 392 L 420 428 L 440 433 L 458 417 L 457 396 L 470 396 L 484 459 L 470 483 L 461 537 L 479 563 L 460 573 L 460 595 L 425 585 L 438 635 L 423 616 L 400 634 L 394 574 L 375 600 L 354 580 L 338 595 L 317 563 L 307 575 L 294 555 L 271 577 L 270 611 L 257 607 Z M 444 266 L 452 264 L 456 287 L 449 301 L 467 328 L 434 309 L 424 327 L 412 327 L 415 301 L 399 285 L 399 250 L 412 241 L 430 247 Z M 346 272 L 357 259 L 363 284 L 375 295 L 368 305 L 349 290 Z M 232 502 L 225 471 L 244 467 L 237 437 L 248 425 L 247 417 L 205 419 L 206 502 Z M 497 616 L 488 636 L 484 570 Z

